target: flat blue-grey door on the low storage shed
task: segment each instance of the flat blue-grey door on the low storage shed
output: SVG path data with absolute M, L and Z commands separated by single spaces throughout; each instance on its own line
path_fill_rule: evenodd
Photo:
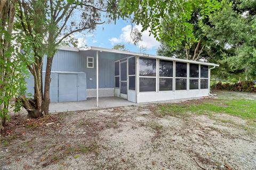
M 77 74 L 59 74 L 59 102 L 77 101 Z

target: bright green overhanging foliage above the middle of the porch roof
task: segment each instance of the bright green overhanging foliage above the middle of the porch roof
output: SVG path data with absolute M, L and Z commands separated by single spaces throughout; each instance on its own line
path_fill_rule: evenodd
M 182 46 L 186 52 L 183 58 L 198 60 L 203 46 L 200 46 L 202 39 L 196 35 L 194 27 L 219 7 L 217 0 L 121 0 L 115 7 L 114 12 L 117 12 L 113 19 L 131 18 L 133 23 L 142 25 L 142 31 L 149 28 L 150 34 L 163 42 L 163 47 L 172 52 Z M 193 46 L 195 48 L 191 55 L 189 50 Z

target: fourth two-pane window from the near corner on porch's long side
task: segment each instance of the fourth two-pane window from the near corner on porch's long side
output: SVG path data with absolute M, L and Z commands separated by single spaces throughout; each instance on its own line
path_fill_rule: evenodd
M 189 90 L 199 89 L 199 65 L 189 64 Z

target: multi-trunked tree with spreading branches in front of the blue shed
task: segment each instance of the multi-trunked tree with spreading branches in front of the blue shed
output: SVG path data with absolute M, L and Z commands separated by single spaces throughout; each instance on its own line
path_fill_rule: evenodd
M 50 104 L 51 66 L 58 46 L 77 32 L 91 32 L 102 24 L 102 13 L 106 12 L 101 0 L 36 1 L 18 0 L 17 14 L 22 49 L 33 64 L 27 65 L 35 82 L 34 99 L 22 97 L 23 106 L 30 117 L 48 114 Z M 43 89 L 43 57 L 47 56 Z

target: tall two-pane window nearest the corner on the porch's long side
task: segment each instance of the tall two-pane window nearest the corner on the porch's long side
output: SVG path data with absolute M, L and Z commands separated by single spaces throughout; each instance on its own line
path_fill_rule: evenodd
M 140 57 L 139 91 L 156 91 L 156 59 Z

